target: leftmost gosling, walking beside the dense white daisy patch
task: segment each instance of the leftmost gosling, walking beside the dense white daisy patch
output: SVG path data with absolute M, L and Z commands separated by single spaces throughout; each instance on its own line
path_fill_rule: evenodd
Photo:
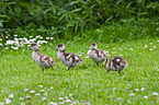
M 38 46 L 36 43 L 33 43 L 29 49 L 34 49 L 34 51 L 32 52 L 32 58 L 43 69 L 43 71 L 44 69 L 48 68 L 53 69 L 53 66 L 56 65 L 55 61 L 49 56 L 39 54 Z

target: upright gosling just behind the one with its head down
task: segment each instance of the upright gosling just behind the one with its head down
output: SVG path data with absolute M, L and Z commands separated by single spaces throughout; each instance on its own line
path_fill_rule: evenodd
M 107 54 L 102 49 L 96 49 L 98 44 L 91 43 L 90 50 L 88 51 L 88 57 L 92 59 L 96 65 L 107 61 Z

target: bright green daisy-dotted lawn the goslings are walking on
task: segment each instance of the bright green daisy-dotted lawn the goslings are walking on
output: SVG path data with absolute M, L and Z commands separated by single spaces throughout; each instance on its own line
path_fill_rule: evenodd
M 48 69 L 43 72 L 31 57 L 33 50 L 27 50 L 27 47 L 23 48 L 25 51 L 22 48 L 12 51 L 3 49 L 0 58 L 0 103 L 5 103 L 5 98 L 10 98 L 9 95 L 13 94 L 14 96 L 10 98 L 11 105 L 21 103 L 47 105 L 49 102 L 57 104 L 64 102 L 65 105 L 73 102 L 77 105 L 84 105 L 86 102 L 91 105 L 158 105 L 159 95 L 152 94 L 159 93 L 159 42 L 157 40 L 158 38 L 120 44 L 98 43 L 99 49 L 109 51 L 111 55 L 109 58 L 123 55 L 127 60 L 128 67 L 122 71 L 121 77 L 114 71 L 107 73 L 104 63 L 96 67 L 92 60 L 86 58 L 90 42 L 60 42 L 66 45 L 67 51 L 83 52 L 81 58 L 84 62 L 69 71 L 57 59 L 57 51 L 54 51 L 58 43 L 39 47 L 42 54 L 50 56 L 56 61 L 55 71 Z M 145 45 L 148 47 L 143 49 Z M 151 48 L 152 50 L 149 50 Z M 24 91 L 25 89 L 29 91 Z M 35 93 L 31 93 L 32 90 Z M 41 95 L 35 95 L 36 93 Z M 129 95 L 132 93 L 135 95 Z M 31 97 L 27 98 L 27 95 Z M 148 97 L 144 98 L 144 96 Z M 47 100 L 43 101 L 43 97 Z

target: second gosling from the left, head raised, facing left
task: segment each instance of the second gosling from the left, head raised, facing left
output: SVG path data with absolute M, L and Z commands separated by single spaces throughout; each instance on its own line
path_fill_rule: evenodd
M 67 70 L 82 62 L 82 59 L 77 54 L 65 52 L 64 44 L 58 44 L 55 50 L 59 50 L 57 52 L 57 58 L 68 67 Z

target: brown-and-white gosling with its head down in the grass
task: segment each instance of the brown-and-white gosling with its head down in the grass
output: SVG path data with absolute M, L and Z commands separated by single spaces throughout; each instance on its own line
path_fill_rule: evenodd
M 110 70 L 117 71 L 120 75 L 121 71 L 124 70 L 127 66 L 128 63 L 124 58 L 113 57 L 110 59 L 105 67 L 107 72 L 110 72 Z

